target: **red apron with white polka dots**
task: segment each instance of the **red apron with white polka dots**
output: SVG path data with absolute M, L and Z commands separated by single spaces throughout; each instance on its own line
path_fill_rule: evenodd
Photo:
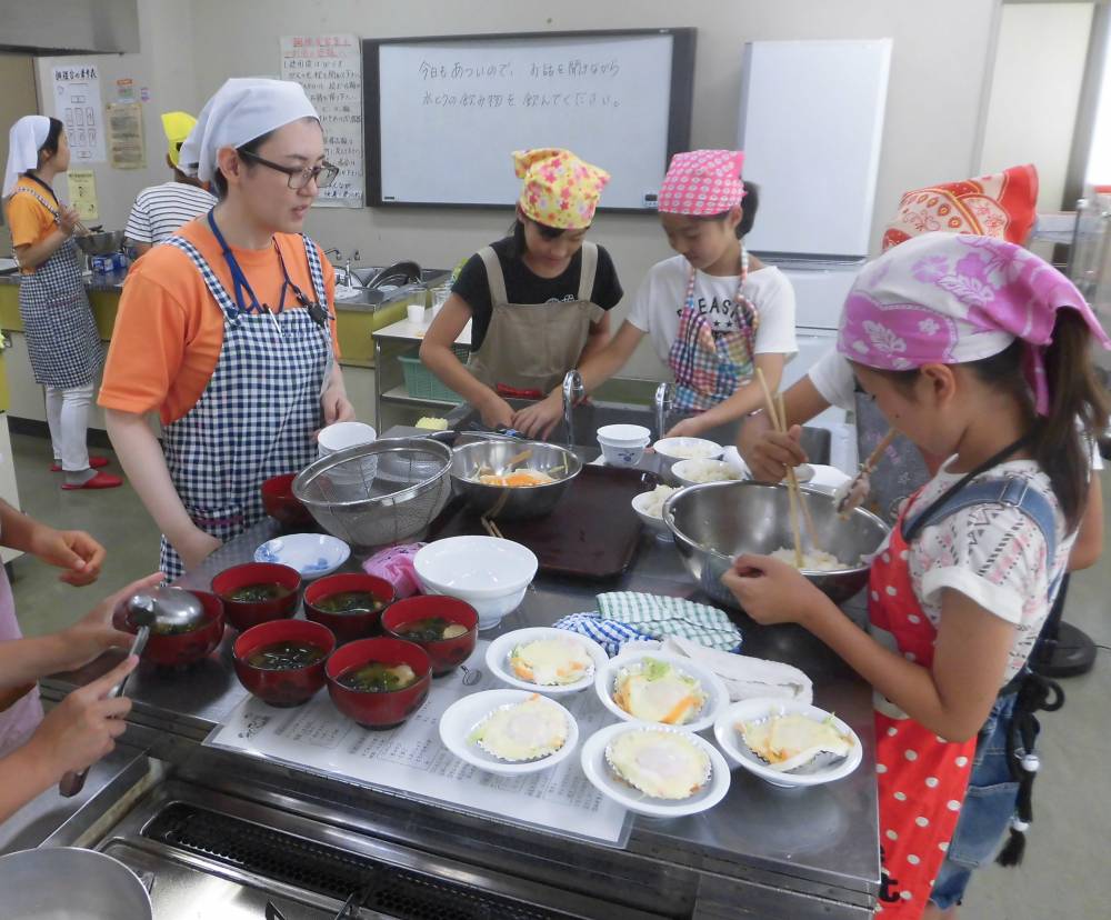
M 938 632 L 914 596 L 902 523 L 900 516 L 887 550 L 872 561 L 869 631 L 881 644 L 929 668 Z M 877 694 L 875 739 L 882 857 L 879 912 L 911 920 L 925 910 L 957 828 L 975 738 L 942 741 Z

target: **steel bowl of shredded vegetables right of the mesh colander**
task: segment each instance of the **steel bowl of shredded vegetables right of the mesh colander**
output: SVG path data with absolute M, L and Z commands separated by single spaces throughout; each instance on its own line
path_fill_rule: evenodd
M 500 470 L 516 454 L 531 450 L 532 456 L 517 470 L 547 472 L 557 481 L 548 486 L 511 489 L 484 486 L 477 481 L 479 471 Z M 550 514 L 563 493 L 582 470 L 582 461 L 567 448 L 542 441 L 483 440 L 458 447 L 452 452 L 451 484 L 469 508 L 489 513 L 499 521 L 528 520 Z

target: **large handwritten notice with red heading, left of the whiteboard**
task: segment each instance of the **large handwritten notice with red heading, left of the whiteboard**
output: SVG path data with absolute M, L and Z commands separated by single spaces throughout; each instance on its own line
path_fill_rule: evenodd
M 361 208 L 366 182 L 362 159 L 362 50 L 356 36 L 284 36 L 281 76 L 304 87 L 320 112 L 324 157 L 340 173 L 320 190 L 318 204 Z

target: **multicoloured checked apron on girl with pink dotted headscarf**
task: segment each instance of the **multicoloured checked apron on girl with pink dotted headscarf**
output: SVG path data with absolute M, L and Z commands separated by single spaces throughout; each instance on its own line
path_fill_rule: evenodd
M 704 412 L 724 402 L 752 377 L 759 316 L 743 293 L 749 277 L 749 253 L 741 248 L 741 277 L 733 297 L 735 328 L 714 329 L 700 304 L 694 302 L 695 270 L 687 279 L 687 299 L 679 317 L 679 334 L 668 354 L 675 376 L 675 411 Z M 728 301 L 727 301 L 728 302 Z

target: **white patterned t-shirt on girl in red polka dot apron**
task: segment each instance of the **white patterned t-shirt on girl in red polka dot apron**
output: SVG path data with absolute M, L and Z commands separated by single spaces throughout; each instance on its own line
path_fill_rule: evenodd
M 949 462 L 952 462 L 951 460 Z M 948 463 L 930 480 L 908 510 L 905 520 L 924 511 L 961 477 Z M 1065 534 L 1064 517 L 1049 477 L 1032 460 L 1000 463 L 973 482 L 1018 477 L 1049 500 L 1057 519 L 1057 552 L 1047 559 L 1047 543 L 1033 519 L 1018 508 L 977 504 L 927 527 L 910 547 L 911 584 L 922 612 L 937 628 L 944 589 L 960 591 L 989 613 L 1015 627 L 1007 671 L 1000 686 L 1022 668 L 1049 616 L 1049 587 L 1069 562 L 1077 532 Z M 887 547 L 882 550 L 887 552 Z

